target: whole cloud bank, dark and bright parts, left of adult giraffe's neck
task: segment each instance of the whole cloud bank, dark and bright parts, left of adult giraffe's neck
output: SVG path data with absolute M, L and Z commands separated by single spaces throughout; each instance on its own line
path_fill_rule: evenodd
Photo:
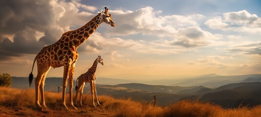
M 45 45 L 60 39 L 63 32 L 85 24 L 94 14 L 79 8 L 96 8 L 79 0 L 0 1 L 0 59 L 36 54 Z M 26 8 L 24 8 L 26 6 Z

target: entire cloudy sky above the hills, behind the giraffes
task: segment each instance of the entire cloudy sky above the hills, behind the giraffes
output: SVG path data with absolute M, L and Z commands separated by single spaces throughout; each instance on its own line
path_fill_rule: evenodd
M 0 73 L 28 76 L 44 46 L 104 6 L 115 27 L 102 23 L 79 47 L 76 78 L 98 55 L 98 77 L 261 74 L 260 0 L 0 0 Z

